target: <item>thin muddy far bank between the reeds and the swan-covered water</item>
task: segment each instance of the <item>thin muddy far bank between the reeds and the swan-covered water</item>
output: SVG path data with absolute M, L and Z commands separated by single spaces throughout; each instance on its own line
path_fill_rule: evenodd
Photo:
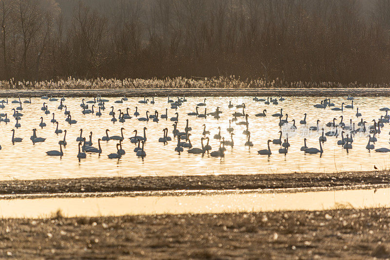
M 312 88 L 312 89 L 96 89 L 96 90 L 0 90 L 0 97 L 143 97 L 143 96 L 390 96 L 390 89 Z

